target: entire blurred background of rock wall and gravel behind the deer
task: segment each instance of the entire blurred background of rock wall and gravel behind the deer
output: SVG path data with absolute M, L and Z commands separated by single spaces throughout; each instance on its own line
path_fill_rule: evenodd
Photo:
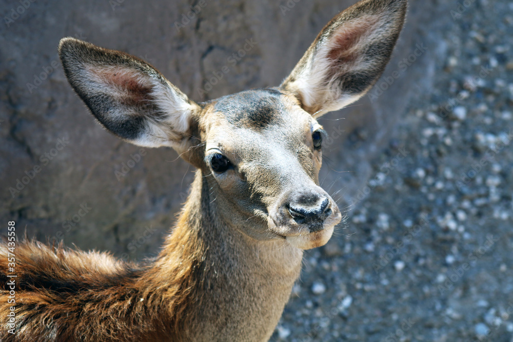
M 187 196 L 172 149 L 94 122 L 62 37 L 139 56 L 201 102 L 279 85 L 353 3 L 0 1 L 1 222 L 136 260 Z M 513 340 L 512 26 L 509 1 L 412 1 L 377 85 L 320 119 L 347 223 L 305 253 L 273 341 Z

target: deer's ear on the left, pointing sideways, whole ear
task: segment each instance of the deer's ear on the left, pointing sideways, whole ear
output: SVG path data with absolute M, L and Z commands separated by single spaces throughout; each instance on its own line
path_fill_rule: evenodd
M 200 106 L 155 68 L 70 37 L 59 55 L 69 83 L 107 130 L 135 145 L 186 148 Z

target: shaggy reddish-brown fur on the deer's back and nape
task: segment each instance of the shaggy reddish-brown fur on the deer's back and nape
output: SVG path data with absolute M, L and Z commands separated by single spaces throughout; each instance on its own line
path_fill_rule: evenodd
M 201 281 L 205 253 L 189 216 L 184 210 L 159 257 L 141 265 L 107 253 L 53 248 L 28 239 L 18 242 L 17 329 L 15 335 L 0 330 L 0 340 L 182 340 L 179 332 L 190 320 L 186 308 L 200 299 L 192 292 Z M 1 247 L 2 255 L 7 254 L 6 244 Z M 7 269 L 5 260 L 0 261 L 2 269 Z M 9 280 L 4 274 L 0 278 L 4 285 Z M 4 290 L 3 322 L 13 305 L 7 303 L 7 287 Z

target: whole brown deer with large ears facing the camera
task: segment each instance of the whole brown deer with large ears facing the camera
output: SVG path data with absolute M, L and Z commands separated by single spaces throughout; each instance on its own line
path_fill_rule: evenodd
M 162 250 L 141 262 L 25 237 L 12 278 L 4 238 L 0 339 L 269 340 L 303 251 L 325 245 L 343 216 L 319 185 L 326 132 L 317 119 L 377 82 L 406 9 L 407 0 L 360 1 L 280 86 L 203 103 L 140 58 L 63 38 L 65 75 L 97 122 L 128 143 L 173 148 L 194 179 Z

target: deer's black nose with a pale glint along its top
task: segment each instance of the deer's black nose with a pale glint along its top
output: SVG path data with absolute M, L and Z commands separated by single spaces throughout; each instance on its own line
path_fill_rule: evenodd
M 306 206 L 301 203 L 291 203 L 289 213 L 294 221 L 309 226 L 310 232 L 317 232 L 323 229 L 323 222 L 331 215 L 331 209 L 328 208 L 329 200 L 321 197 L 313 206 Z

